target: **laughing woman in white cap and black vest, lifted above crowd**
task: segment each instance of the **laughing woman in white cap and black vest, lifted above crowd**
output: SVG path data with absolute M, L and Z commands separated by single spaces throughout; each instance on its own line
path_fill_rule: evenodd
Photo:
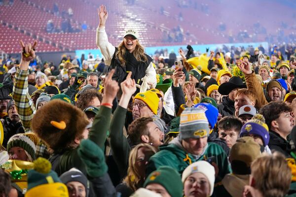
M 113 80 L 118 84 L 126 79 L 128 72 L 132 71 L 132 79 L 135 79 L 140 92 L 156 86 L 156 71 L 152 65 L 152 59 L 144 53 L 144 47 L 139 42 L 139 34 L 135 29 L 124 32 L 123 40 L 114 47 L 107 37 L 105 25 L 108 18 L 106 6 L 98 9 L 100 24 L 97 28 L 96 44 L 101 50 L 106 65 L 115 69 Z M 137 91 L 139 92 L 139 91 Z

